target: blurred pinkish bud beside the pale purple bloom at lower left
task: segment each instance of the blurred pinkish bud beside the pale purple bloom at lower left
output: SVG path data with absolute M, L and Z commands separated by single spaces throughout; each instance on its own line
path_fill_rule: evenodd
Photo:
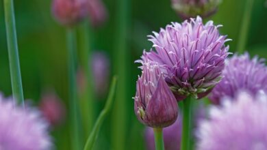
M 51 125 L 60 125 L 66 116 L 64 104 L 60 101 L 58 95 L 53 92 L 47 92 L 42 95 L 40 100 L 40 110 L 45 119 Z

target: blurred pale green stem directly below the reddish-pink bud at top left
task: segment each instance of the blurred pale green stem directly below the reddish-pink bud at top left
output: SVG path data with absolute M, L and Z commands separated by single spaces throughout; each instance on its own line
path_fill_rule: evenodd
M 79 113 L 77 105 L 77 82 L 76 82 L 76 35 L 75 29 L 69 28 L 67 30 L 67 44 L 68 44 L 68 82 L 69 82 L 69 106 L 71 113 L 72 127 L 72 141 L 73 149 L 81 149 L 80 133 L 79 133 Z

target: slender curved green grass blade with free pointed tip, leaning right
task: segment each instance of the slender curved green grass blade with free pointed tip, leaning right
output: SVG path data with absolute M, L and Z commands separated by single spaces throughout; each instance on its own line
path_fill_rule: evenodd
M 112 80 L 112 86 L 110 87 L 110 93 L 107 97 L 107 102 L 105 103 L 105 107 L 101 111 L 99 117 L 97 118 L 97 122 L 94 124 L 94 128 L 92 129 L 92 132 L 90 136 L 88 137 L 86 141 L 86 145 L 84 147 L 84 150 L 92 149 L 94 146 L 94 142 L 97 140 L 97 136 L 99 134 L 100 127 L 107 116 L 108 112 L 110 112 L 111 107 L 112 107 L 112 102 L 114 99 L 114 93 L 116 89 L 116 77 L 113 78 Z

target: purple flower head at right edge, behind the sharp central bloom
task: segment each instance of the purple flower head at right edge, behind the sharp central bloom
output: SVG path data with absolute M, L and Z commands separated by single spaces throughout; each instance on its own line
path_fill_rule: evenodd
M 264 59 L 254 57 L 251 60 L 247 52 L 227 59 L 223 75 L 225 77 L 209 96 L 214 104 L 220 104 L 222 97 L 234 98 L 242 90 L 251 95 L 255 95 L 259 90 L 267 91 L 267 67 L 264 65 Z

